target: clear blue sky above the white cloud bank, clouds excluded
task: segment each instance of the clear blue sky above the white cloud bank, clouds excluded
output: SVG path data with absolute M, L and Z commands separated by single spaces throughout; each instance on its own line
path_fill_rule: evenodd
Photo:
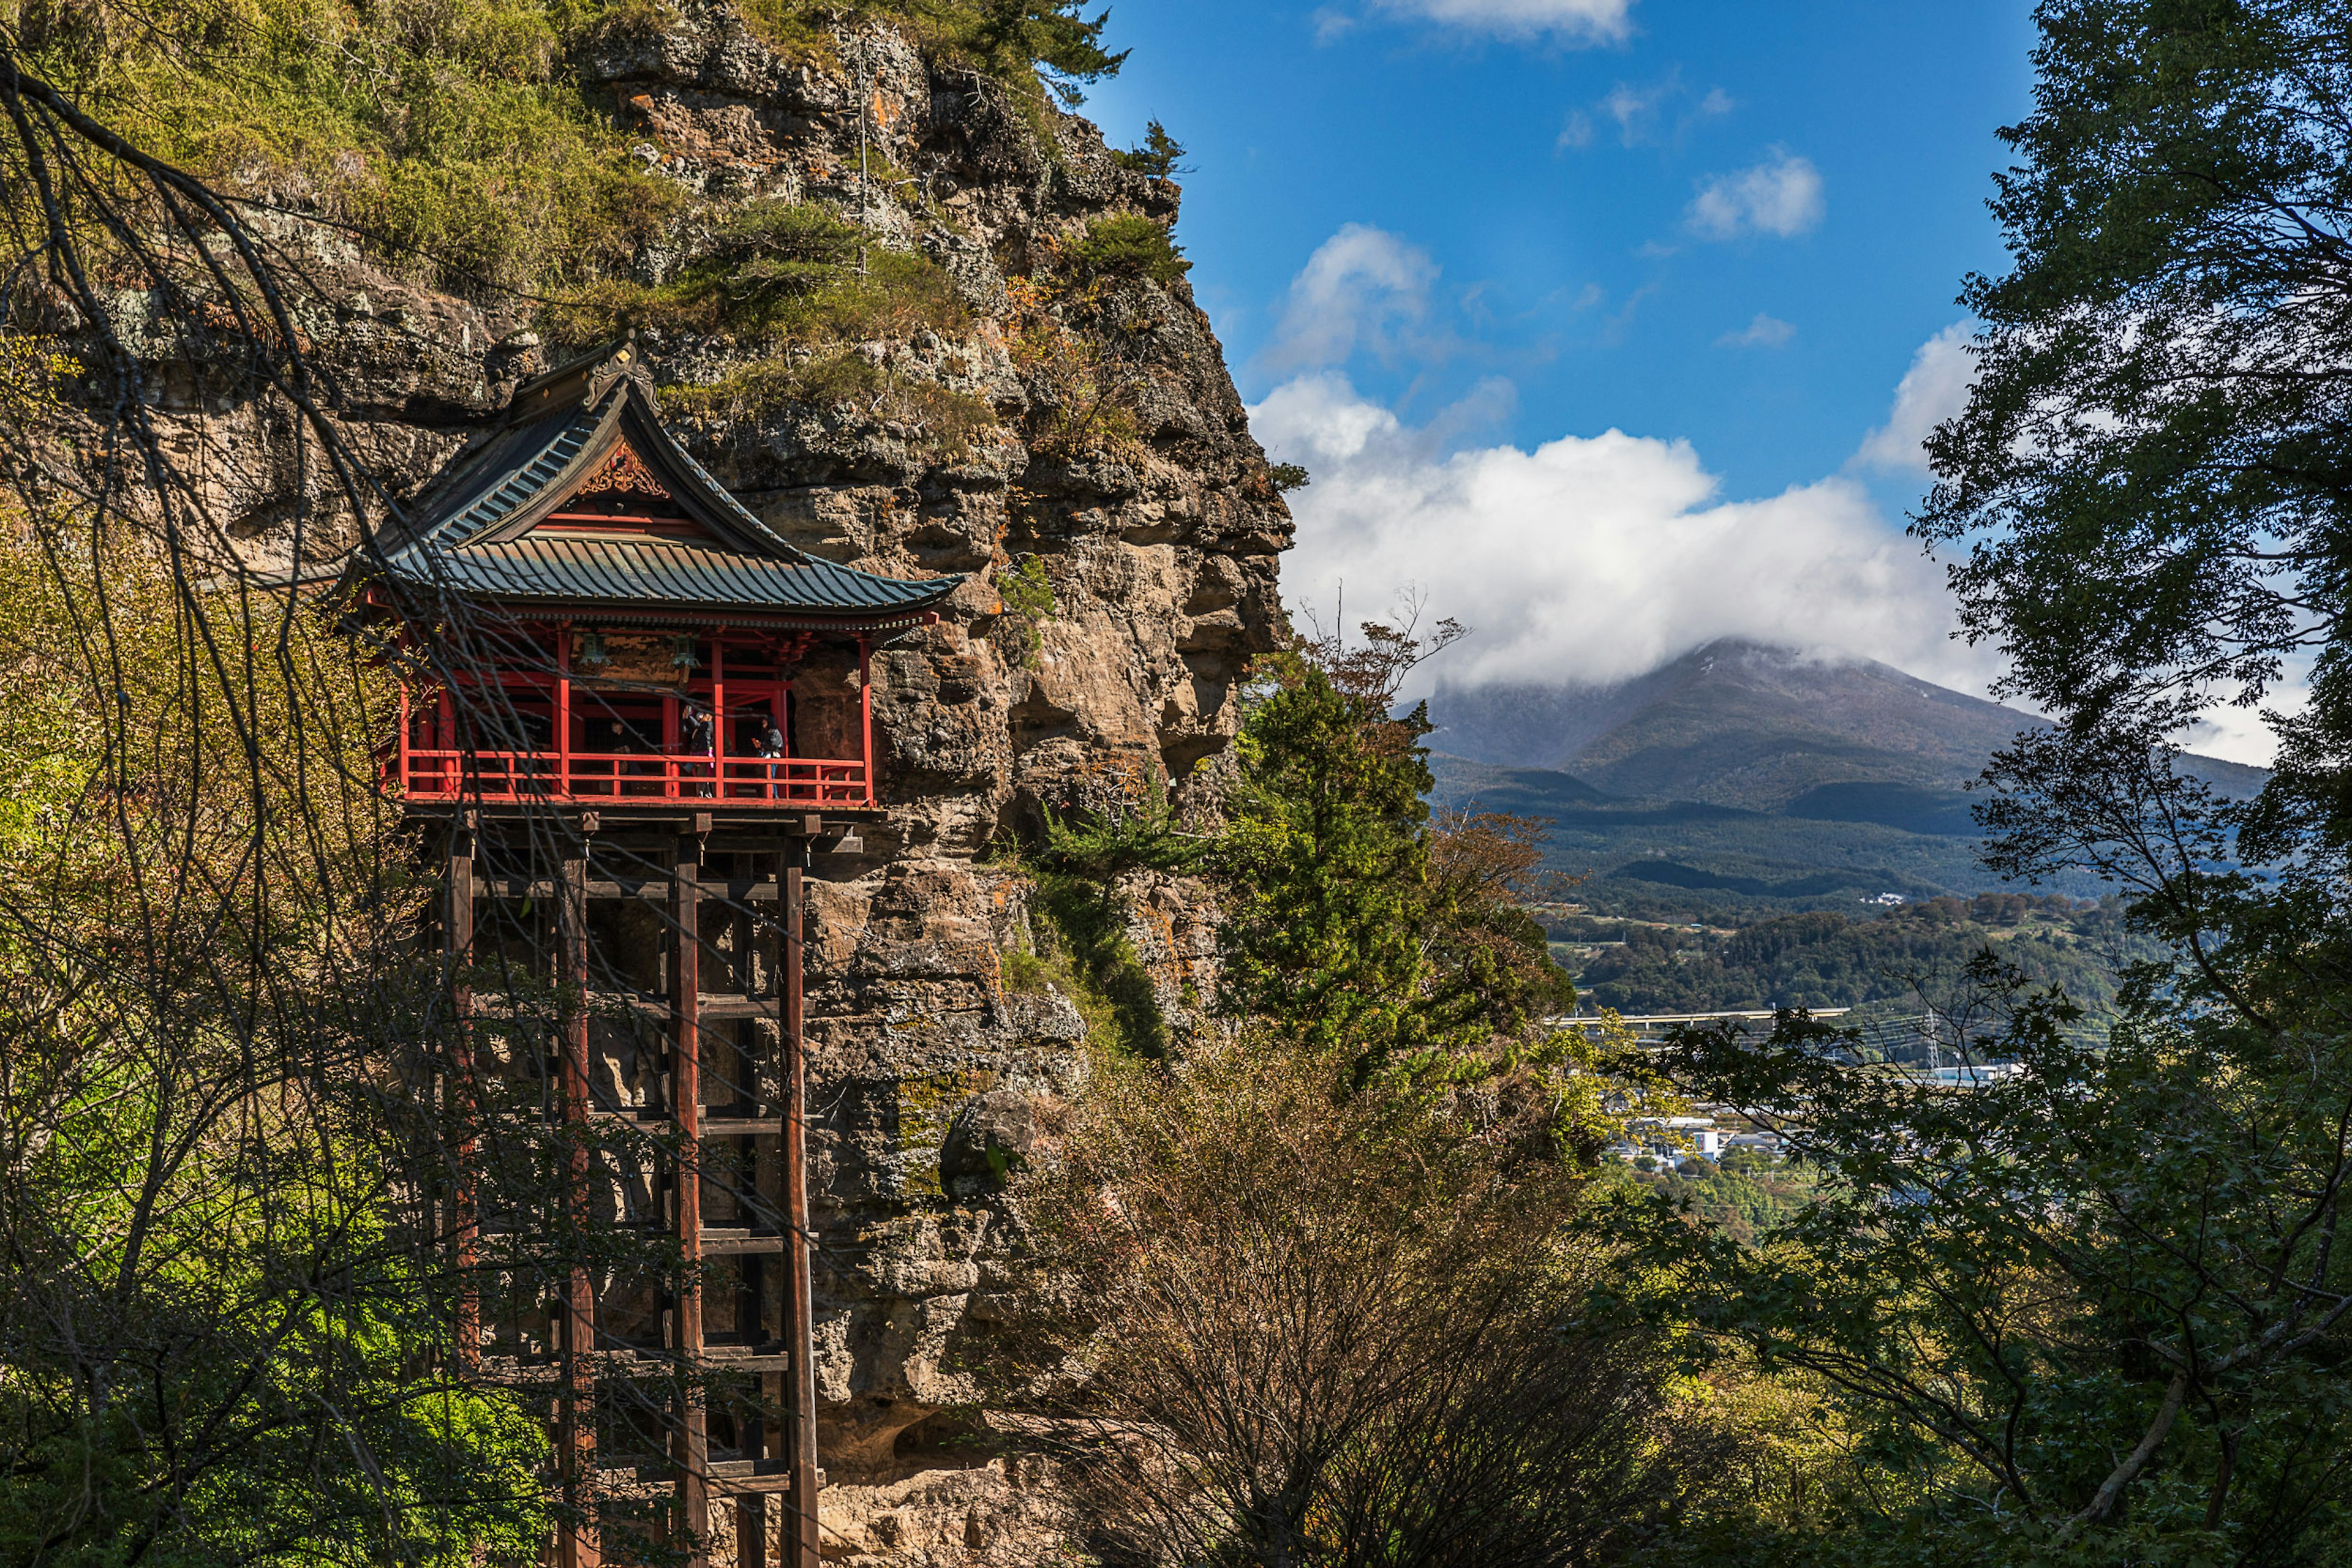
M 1362 223 L 1437 277 L 1409 341 L 1359 346 L 1357 388 L 1416 418 L 1501 376 L 1515 397 L 1475 435 L 1684 437 L 1759 496 L 1839 468 L 1959 320 L 1962 275 L 2002 266 L 1985 197 L 1994 129 L 2027 108 L 2027 12 L 1124 0 L 1134 54 L 1087 113 L 1192 148 L 1181 240 L 1244 397 L 1294 369 L 1272 353 L 1294 275 Z M 1750 169 L 1811 172 L 1816 200 L 1740 212 Z M 1726 176 L 1731 212 L 1693 216 Z

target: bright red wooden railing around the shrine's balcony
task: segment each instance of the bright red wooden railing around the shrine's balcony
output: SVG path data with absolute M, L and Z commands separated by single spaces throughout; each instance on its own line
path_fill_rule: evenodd
M 713 764 L 717 776 L 713 776 Z M 459 752 L 402 748 L 409 799 L 614 806 L 870 806 L 866 764 L 835 757 L 694 757 L 644 752 Z

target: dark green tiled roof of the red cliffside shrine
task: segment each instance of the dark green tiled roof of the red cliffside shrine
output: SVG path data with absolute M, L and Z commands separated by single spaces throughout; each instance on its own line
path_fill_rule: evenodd
M 532 534 L 623 440 L 710 538 Z M 903 623 L 964 581 L 887 578 L 788 545 L 663 430 L 626 348 L 522 386 L 508 423 L 461 451 L 412 524 L 383 543 L 381 567 L 414 588 L 473 599 L 842 623 Z

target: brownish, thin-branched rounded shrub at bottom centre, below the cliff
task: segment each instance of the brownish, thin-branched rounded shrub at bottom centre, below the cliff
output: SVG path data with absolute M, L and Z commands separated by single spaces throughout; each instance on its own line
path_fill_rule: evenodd
M 1651 1340 L 1588 1326 L 1573 1180 L 1324 1056 L 1105 1065 L 1023 1197 L 1091 1305 L 1098 1561 L 1609 1561 L 1729 1448 Z

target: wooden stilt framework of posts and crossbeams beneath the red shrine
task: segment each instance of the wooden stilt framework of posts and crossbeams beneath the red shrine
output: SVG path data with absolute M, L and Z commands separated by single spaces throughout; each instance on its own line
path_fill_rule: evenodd
M 564 1222 L 572 1234 L 574 1255 L 553 1288 L 553 1436 L 555 1436 L 555 1483 L 564 1502 L 564 1523 L 557 1530 L 550 1554 L 553 1568 L 597 1568 L 609 1561 L 609 1552 L 621 1542 L 604 1542 L 597 1521 L 597 1371 L 612 1359 L 609 1352 L 628 1354 L 628 1345 L 607 1342 L 600 1347 L 597 1288 L 581 1244 L 595 1225 L 593 1199 L 593 1126 L 600 1112 L 590 1081 L 590 1001 L 600 994 L 590 987 L 593 940 L 588 910 L 595 900 L 626 900 L 642 907 L 659 898 L 670 917 L 668 973 L 661 1004 L 654 1016 L 666 1025 L 668 1093 L 659 1112 L 677 1135 L 677 1157 L 666 1182 L 668 1229 L 675 1234 L 682 1260 L 677 1293 L 663 1338 L 680 1396 L 675 1401 L 677 1425 L 670 1448 L 661 1460 L 670 1467 L 673 1486 L 673 1542 L 682 1547 L 689 1563 L 703 1568 L 710 1556 L 710 1505 L 729 1500 L 734 1505 L 734 1537 L 739 1568 L 767 1568 L 769 1528 L 779 1523 L 776 1509 L 767 1505 L 767 1493 L 786 1493 L 781 1514 L 783 1528 L 781 1563 L 786 1568 L 818 1568 L 818 1469 L 816 1469 L 816 1368 L 814 1368 L 814 1251 L 809 1225 L 809 1107 L 807 1107 L 807 1018 L 804 1018 L 804 964 L 807 964 L 807 865 L 809 844 L 823 832 L 821 816 L 788 818 L 783 835 L 776 827 L 739 842 L 729 853 L 755 856 L 753 863 L 736 863 L 720 879 L 708 877 L 710 813 L 680 818 L 668 839 L 628 853 L 654 856 L 659 867 L 652 879 L 621 879 L 602 870 L 590 835 L 597 832 L 597 816 L 583 813 L 583 837 L 562 851 L 557 865 L 541 863 L 539 872 L 527 865 L 532 849 L 513 839 L 503 851 L 485 849 L 473 818 L 452 823 L 447 846 L 447 922 L 445 943 L 452 985 L 459 1006 L 459 1048 L 447 1077 L 447 1103 L 459 1121 L 459 1173 L 449 1206 L 449 1237 L 454 1262 L 461 1269 L 459 1335 L 461 1359 L 480 1363 L 485 1321 L 475 1295 L 480 1272 L 480 1225 L 473 1161 L 477 1159 L 480 1098 L 473 1084 L 473 1020 L 496 1018 L 496 1006 L 485 1006 L 466 990 L 473 959 L 477 900 L 482 898 L 541 898 L 553 896 L 555 943 L 553 978 L 560 992 L 553 1067 L 553 1114 L 564 1138 Z M 489 839 L 496 839 L 492 832 Z M 663 844 L 668 849 L 663 849 Z M 724 837 L 722 837 L 724 844 Z M 492 858 L 485 863 L 482 856 Z M 503 865 L 501 856 L 517 856 L 524 865 Z M 771 858 L 771 867 L 762 860 Z M 623 860 L 626 863 L 626 860 Z M 640 865 L 644 865 L 640 860 Z M 546 872 L 555 870 L 555 877 Z M 590 872 L 597 872 L 595 877 Z M 706 903 L 722 898 L 729 903 L 774 900 L 776 907 L 776 969 L 769 994 L 755 994 L 753 933 L 764 922 L 748 914 L 743 919 L 741 961 L 743 990 L 736 994 L 706 992 Z M 546 907 L 546 903 L 541 903 Z M 621 992 L 621 999 L 628 994 Z M 647 1004 L 637 1004 L 647 1011 Z M 708 1041 L 734 1044 L 731 1030 L 713 1032 L 713 1020 L 774 1018 L 781 1048 L 779 1100 L 767 1095 L 757 1081 L 734 1084 L 748 1067 L 741 1063 L 715 1063 L 706 1056 Z M 729 1107 L 706 1114 L 706 1086 L 717 1072 L 717 1086 L 731 1086 L 724 1098 Z M 753 1105 L 746 1105 L 750 1100 Z M 652 1110 L 652 1107 L 649 1107 Z M 626 1114 L 626 1107 L 623 1107 Z M 741 1140 L 746 1175 L 729 1178 L 717 1192 L 734 1197 L 736 1218 L 706 1220 L 708 1147 L 715 1138 Z M 771 1185 L 774 1182 L 774 1185 Z M 776 1208 L 767 1208 L 760 1194 L 771 1194 Z M 776 1229 L 753 1211 L 771 1213 Z M 717 1229 L 713 1229 L 713 1225 Z M 781 1234 L 779 1234 L 781 1232 Z M 703 1267 L 710 1258 L 736 1258 L 741 1267 L 736 1286 L 734 1326 L 729 1342 L 708 1342 L 708 1300 L 703 1291 Z M 764 1269 L 779 1258 L 781 1291 L 771 1295 Z M 776 1321 L 781 1319 L 781 1321 Z M 769 1324 L 776 1333 L 771 1335 Z M 774 1345 L 781 1338 L 783 1345 Z M 739 1340 L 739 1342 L 736 1342 Z M 776 1354 L 783 1349 L 783 1354 Z M 734 1410 L 734 1455 L 710 1448 L 710 1401 L 706 1380 L 710 1371 L 734 1368 L 755 1378 L 753 1403 Z M 769 1413 L 781 1420 L 769 1420 Z M 612 1455 L 626 1465 L 628 1455 Z

